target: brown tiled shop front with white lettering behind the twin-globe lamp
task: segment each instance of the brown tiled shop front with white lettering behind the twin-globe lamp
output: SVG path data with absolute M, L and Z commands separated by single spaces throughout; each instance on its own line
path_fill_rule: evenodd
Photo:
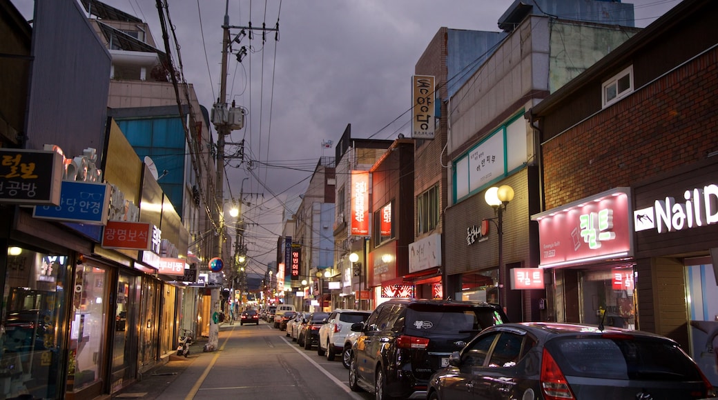
M 528 171 L 495 182 L 504 185 L 514 196 L 500 210 L 486 202 L 486 189 L 447 209 L 444 297 L 500 304 L 513 322 L 539 320 L 544 290 L 510 287 L 514 269 L 538 264 L 531 259 Z

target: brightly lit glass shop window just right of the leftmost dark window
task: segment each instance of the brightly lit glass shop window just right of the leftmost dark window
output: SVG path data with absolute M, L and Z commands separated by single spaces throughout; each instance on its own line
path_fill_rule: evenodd
M 75 268 L 67 391 L 101 380 L 107 326 L 108 272 L 85 263 Z

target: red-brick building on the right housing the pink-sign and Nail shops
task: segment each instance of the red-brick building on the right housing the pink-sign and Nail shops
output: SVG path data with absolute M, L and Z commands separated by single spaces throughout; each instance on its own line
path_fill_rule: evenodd
M 526 113 L 551 315 L 667 335 L 714 385 L 717 16 L 682 1 Z

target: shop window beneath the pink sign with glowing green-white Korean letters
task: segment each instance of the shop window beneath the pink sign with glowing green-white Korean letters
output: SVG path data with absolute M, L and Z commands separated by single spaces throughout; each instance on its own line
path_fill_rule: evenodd
M 633 267 L 579 273 L 582 323 L 635 329 Z

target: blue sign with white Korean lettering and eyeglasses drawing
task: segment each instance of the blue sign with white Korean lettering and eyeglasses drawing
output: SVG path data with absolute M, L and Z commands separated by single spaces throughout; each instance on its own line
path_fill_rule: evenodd
M 35 206 L 32 216 L 84 224 L 107 224 L 110 186 L 62 181 L 60 206 Z

